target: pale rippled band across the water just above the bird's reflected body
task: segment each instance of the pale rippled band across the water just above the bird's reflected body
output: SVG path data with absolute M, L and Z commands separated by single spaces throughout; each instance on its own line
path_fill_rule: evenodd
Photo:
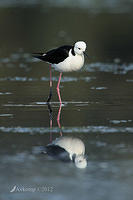
M 45 134 L 49 132 L 58 133 L 59 128 L 53 127 L 0 127 L 0 131 L 5 133 L 30 133 Z M 109 126 L 84 126 L 84 127 L 63 127 L 63 133 L 133 133 L 133 127 L 109 127 Z

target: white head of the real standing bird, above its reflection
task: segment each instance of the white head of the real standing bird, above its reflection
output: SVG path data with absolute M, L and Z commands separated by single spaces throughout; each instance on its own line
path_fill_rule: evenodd
M 74 52 L 75 52 L 76 54 L 81 55 L 81 54 L 83 54 L 83 52 L 84 52 L 85 50 L 86 50 L 86 43 L 85 43 L 85 42 L 83 42 L 83 41 L 78 41 L 78 42 L 75 43 L 75 45 L 74 45 Z

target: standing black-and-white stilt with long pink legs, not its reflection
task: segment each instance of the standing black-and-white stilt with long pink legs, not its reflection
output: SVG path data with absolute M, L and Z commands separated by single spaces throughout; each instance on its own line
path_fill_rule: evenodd
M 55 70 L 60 72 L 58 84 L 57 84 L 57 94 L 59 97 L 60 104 L 60 81 L 62 72 L 71 72 L 81 69 L 84 65 L 84 53 L 86 50 L 86 43 L 83 41 L 76 42 L 72 45 L 64 45 L 56 49 L 52 49 L 46 53 L 34 53 L 35 58 L 41 59 L 45 62 L 50 63 L 50 93 L 47 102 L 50 102 L 52 97 L 52 73 L 51 66 Z M 85 54 L 86 55 L 86 54 Z

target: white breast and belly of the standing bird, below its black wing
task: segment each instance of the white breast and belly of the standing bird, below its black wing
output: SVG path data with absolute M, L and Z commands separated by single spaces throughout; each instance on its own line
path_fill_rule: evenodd
M 53 64 L 55 70 L 60 72 L 77 71 L 83 67 L 84 55 L 69 56 L 59 64 Z

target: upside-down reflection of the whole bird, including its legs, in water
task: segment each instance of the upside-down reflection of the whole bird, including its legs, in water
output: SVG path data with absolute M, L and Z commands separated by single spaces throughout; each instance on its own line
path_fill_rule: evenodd
M 73 161 L 77 168 L 86 168 L 87 159 L 85 156 L 85 145 L 83 141 L 77 137 L 62 136 L 60 125 L 61 105 L 57 115 L 57 123 L 60 128 L 60 137 L 52 141 L 52 108 L 48 104 L 49 117 L 50 117 L 50 144 L 48 144 L 43 153 L 59 159 L 64 162 Z

